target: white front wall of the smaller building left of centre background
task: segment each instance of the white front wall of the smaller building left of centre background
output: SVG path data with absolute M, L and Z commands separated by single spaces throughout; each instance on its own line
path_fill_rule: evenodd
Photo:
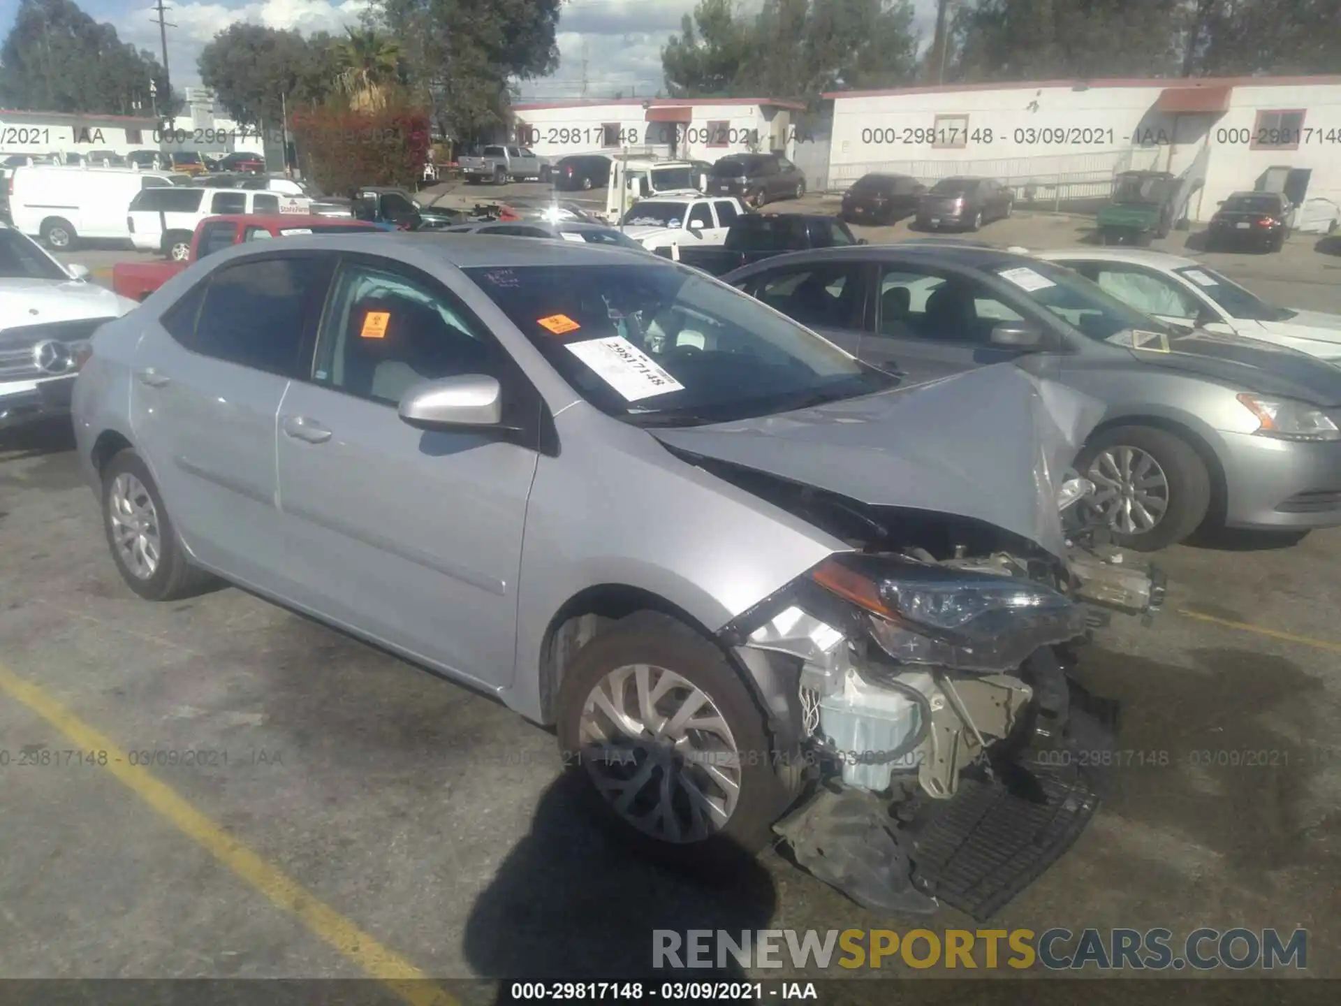
M 681 125 L 683 139 L 676 156 L 685 160 L 716 161 L 728 154 L 746 153 L 758 135 L 758 149 L 770 150 L 774 137 L 789 135 L 790 113 L 786 109 L 759 105 L 709 105 L 684 102 L 693 109 L 693 119 Z M 665 107 L 665 106 L 658 106 Z M 524 145 L 542 157 L 559 158 L 581 153 L 618 153 L 620 148 L 603 145 L 605 123 L 618 123 L 624 142 L 638 152 L 665 156 L 669 153 L 666 129 L 676 123 L 648 122 L 641 102 L 609 105 L 574 105 L 570 107 L 516 109 L 516 119 L 527 134 Z M 709 129 L 709 123 L 724 123 Z M 725 139 L 724 145 L 712 145 Z M 645 148 L 650 148 L 646 149 Z

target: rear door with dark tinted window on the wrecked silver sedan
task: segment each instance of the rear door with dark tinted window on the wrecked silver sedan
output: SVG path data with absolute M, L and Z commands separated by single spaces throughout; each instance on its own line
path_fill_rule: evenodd
M 135 349 L 131 429 L 173 520 L 201 562 L 261 589 L 283 575 L 275 413 L 327 282 L 310 254 L 224 266 L 146 321 Z

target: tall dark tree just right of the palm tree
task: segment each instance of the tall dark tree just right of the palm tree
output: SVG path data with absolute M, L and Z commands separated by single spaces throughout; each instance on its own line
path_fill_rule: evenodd
M 444 133 L 481 139 L 508 121 L 512 79 L 551 72 L 562 0 L 377 0 L 404 47 L 412 95 Z

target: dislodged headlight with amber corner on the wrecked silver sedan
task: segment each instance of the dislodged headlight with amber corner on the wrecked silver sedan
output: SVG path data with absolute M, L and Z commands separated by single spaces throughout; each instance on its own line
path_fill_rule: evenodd
M 880 648 L 905 664 L 1000 672 L 1085 632 L 1082 605 L 1018 577 L 854 554 L 826 559 L 811 577 L 862 609 Z

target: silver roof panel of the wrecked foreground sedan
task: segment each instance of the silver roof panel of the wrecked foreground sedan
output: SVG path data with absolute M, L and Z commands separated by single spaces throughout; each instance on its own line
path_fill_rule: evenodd
M 646 266 L 649 260 L 665 262 L 668 267 L 675 267 L 669 259 L 656 259 L 646 252 L 610 244 L 590 244 L 566 241 L 562 251 L 551 243 L 534 237 L 511 237 L 495 235 L 476 235 L 461 232 L 409 232 L 409 231 L 382 231 L 377 233 L 354 235 L 294 235 L 284 239 L 286 249 L 311 248 L 312 251 L 347 251 L 365 254 L 384 254 L 392 259 L 412 260 L 420 256 L 439 259 L 457 268 L 526 268 L 528 266 L 617 266 L 621 260 L 633 266 Z M 245 248 L 245 245 L 237 245 Z M 256 254 L 260 248 L 268 248 L 266 243 L 257 243 Z M 247 252 L 236 254 L 244 258 Z M 614 258 L 611 258 L 614 256 Z

